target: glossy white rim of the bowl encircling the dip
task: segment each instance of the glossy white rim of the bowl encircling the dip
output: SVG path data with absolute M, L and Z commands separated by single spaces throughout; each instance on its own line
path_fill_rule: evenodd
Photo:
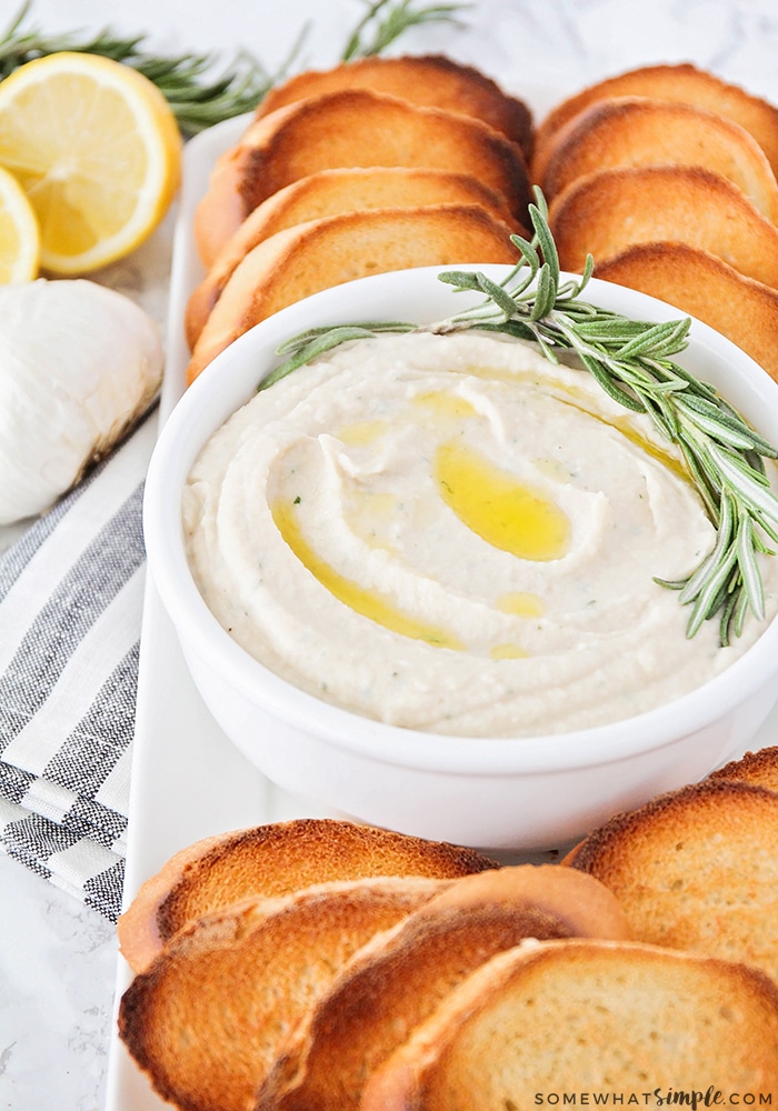
M 153 449 L 147 472 L 143 496 L 143 532 L 151 579 L 168 611 L 191 668 L 194 655 L 217 673 L 229 674 L 229 682 L 250 701 L 261 702 L 266 711 L 282 718 L 292 727 L 315 733 L 329 745 L 360 752 L 372 761 L 427 770 L 437 774 L 491 775 L 495 773 L 531 774 L 580 769 L 602 763 L 617 763 L 649 751 L 676 743 L 689 732 L 710 725 L 728 711 L 748 701 L 759 689 L 778 675 L 778 618 L 746 652 L 722 672 L 701 687 L 645 713 L 606 724 L 575 731 L 530 737 L 471 737 L 426 732 L 392 725 L 363 717 L 342 707 L 326 702 L 293 683 L 280 678 L 260 661 L 250 657 L 211 613 L 189 570 L 183 547 L 180 519 L 181 487 L 194 454 L 206 436 L 219 427 L 250 389 L 237 382 L 248 381 L 248 367 L 253 359 L 258 367 L 263 360 L 266 372 L 272 366 L 268 358 L 279 342 L 311 323 L 337 323 L 355 319 L 353 304 L 360 299 L 383 304 L 412 288 L 423 290 L 435 282 L 436 294 L 452 291 L 437 283 L 437 276 L 452 269 L 481 270 L 499 280 L 509 266 L 462 263 L 457 267 L 420 267 L 412 271 L 393 271 L 358 279 L 333 289 L 315 293 L 305 301 L 255 326 L 222 351 L 207 370 L 189 386 L 164 422 Z M 576 277 L 576 276 L 570 276 Z M 460 294 L 458 294 L 459 297 Z M 468 303 L 481 300 L 465 294 Z M 587 299 L 628 314 L 664 320 L 686 317 L 678 309 L 592 278 Z M 456 309 L 465 301 L 457 301 Z M 451 311 L 455 311 L 455 308 Z M 361 319 L 370 319 L 365 314 Z M 376 319 L 375 312 L 372 319 Z M 383 319 L 389 319 L 383 313 Z M 409 312 L 406 319 L 418 319 Z M 422 319 L 428 316 L 422 314 Z M 418 321 L 421 322 L 421 321 Z M 778 413 L 778 383 L 744 351 L 714 329 L 692 319 L 692 351 L 711 350 L 718 360 L 735 361 L 745 371 L 739 387 L 754 394 L 754 403 L 764 403 Z M 251 382 L 258 382 L 261 370 Z M 761 410 L 760 410 L 761 411 Z M 778 418 L 776 421 L 778 431 Z M 206 434 L 201 434 L 207 430 Z M 778 701 L 778 692 L 776 693 Z M 681 723 L 687 722 L 684 727 Z M 629 743 L 625 744 L 625 725 L 629 725 Z M 441 745 L 446 745 L 446 767 L 440 765 Z

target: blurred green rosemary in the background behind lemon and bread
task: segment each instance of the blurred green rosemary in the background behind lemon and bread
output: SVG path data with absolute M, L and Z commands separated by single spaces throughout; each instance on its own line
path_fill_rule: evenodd
M 457 0 L 416 7 L 415 2 L 375 0 L 369 3 L 368 12 L 347 40 L 341 60 L 380 53 L 411 27 L 456 22 L 455 12 L 461 7 Z M 308 26 L 301 29 L 289 56 L 275 72 L 267 70 L 248 50 L 239 50 L 226 67 L 218 69 L 219 59 L 215 53 L 158 54 L 147 49 L 147 36 L 127 38 L 108 27 L 92 36 L 81 31 L 46 34 L 34 24 L 23 26 L 31 7 L 32 0 L 24 0 L 0 34 L 0 80 L 26 62 L 61 50 L 112 58 L 132 66 L 154 82 L 187 138 L 213 123 L 253 111 L 269 90 L 292 71 L 310 32 Z

